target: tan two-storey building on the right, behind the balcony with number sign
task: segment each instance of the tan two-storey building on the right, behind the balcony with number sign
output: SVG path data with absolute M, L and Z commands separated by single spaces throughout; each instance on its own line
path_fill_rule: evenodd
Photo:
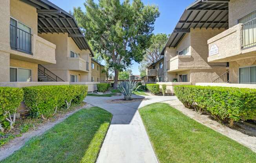
M 227 0 L 197 0 L 185 9 L 161 52 L 163 82 L 214 82 L 228 71 L 227 62 L 207 60 L 207 40 L 228 27 L 228 8 Z

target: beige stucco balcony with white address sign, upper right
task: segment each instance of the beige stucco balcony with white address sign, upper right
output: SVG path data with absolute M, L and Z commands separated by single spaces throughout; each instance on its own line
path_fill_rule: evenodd
M 210 38 L 208 49 L 208 62 L 232 62 L 255 57 L 256 20 L 235 25 Z

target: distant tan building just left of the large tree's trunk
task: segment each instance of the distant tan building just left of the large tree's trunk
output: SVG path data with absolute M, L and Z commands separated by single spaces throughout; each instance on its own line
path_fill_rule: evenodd
M 90 82 L 106 82 L 105 67 L 101 63 L 91 58 L 91 81 Z

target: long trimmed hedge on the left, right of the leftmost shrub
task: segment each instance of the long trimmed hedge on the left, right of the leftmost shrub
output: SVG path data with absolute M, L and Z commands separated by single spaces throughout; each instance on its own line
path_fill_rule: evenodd
M 87 95 L 86 85 L 47 85 L 24 87 L 24 102 L 30 113 L 43 119 L 55 114 L 59 108 L 81 103 Z

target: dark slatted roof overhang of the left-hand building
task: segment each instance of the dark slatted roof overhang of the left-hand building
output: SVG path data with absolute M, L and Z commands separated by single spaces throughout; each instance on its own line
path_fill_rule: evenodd
M 37 8 L 38 33 L 68 33 L 81 50 L 90 50 L 75 18 L 48 0 L 21 0 Z

